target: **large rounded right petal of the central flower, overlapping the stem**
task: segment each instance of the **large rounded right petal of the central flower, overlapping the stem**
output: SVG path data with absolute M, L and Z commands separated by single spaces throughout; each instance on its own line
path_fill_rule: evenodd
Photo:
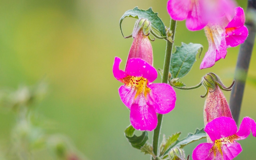
M 166 83 L 153 83 L 148 85 L 152 90 L 153 99 L 149 98 L 149 103 L 155 108 L 156 113 L 166 114 L 175 107 L 176 93 L 172 86 Z

